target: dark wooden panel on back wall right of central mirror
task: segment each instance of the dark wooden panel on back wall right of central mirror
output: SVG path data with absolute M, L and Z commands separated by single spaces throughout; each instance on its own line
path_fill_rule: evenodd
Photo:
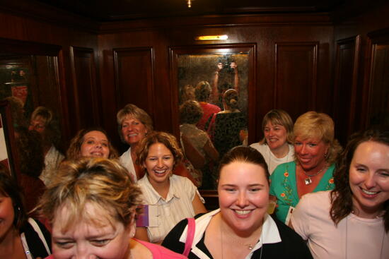
M 275 59 L 275 107 L 294 119 L 315 109 L 318 42 L 277 42 Z

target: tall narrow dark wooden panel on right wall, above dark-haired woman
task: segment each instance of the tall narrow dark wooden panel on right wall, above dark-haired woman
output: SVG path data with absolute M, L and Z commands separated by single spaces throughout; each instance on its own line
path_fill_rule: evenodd
M 335 135 L 342 145 L 355 131 L 355 106 L 361 36 L 337 40 L 335 63 Z

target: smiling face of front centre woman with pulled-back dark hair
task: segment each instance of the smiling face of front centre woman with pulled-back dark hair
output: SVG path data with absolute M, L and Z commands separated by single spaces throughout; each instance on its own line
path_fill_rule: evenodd
M 250 234 L 261 226 L 269 205 L 269 183 L 260 165 L 239 161 L 225 165 L 218 193 L 222 218 L 234 231 Z

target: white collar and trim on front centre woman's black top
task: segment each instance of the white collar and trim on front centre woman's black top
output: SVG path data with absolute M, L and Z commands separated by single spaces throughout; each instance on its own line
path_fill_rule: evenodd
M 197 248 L 197 243 L 201 241 L 202 236 L 204 236 L 205 230 L 207 229 L 209 222 L 211 222 L 212 217 L 220 212 L 220 209 L 211 211 L 207 214 L 202 215 L 201 217 L 195 220 L 196 229 L 194 231 L 194 238 L 192 243 L 192 253 L 197 255 L 199 258 L 207 259 L 209 258 L 206 253 Z M 182 235 L 180 236 L 180 242 L 185 243 L 187 239 L 187 227 L 185 227 Z M 276 222 L 269 215 L 265 215 L 265 222 L 262 225 L 262 234 L 261 239 L 258 241 L 252 251 L 245 257 L 245 259 L 250 259 L 252 253 L 262 247 L 262 243 L 279 243 L 281 242 L 281 236 L 279 235 L 279 231 L 277 228 Z

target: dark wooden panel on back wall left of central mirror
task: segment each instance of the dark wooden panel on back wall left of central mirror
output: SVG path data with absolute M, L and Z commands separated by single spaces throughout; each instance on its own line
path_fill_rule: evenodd
M 114 49 L 114 63 L 117 110 L 132 103 L 153 116 L 153 49 Z

